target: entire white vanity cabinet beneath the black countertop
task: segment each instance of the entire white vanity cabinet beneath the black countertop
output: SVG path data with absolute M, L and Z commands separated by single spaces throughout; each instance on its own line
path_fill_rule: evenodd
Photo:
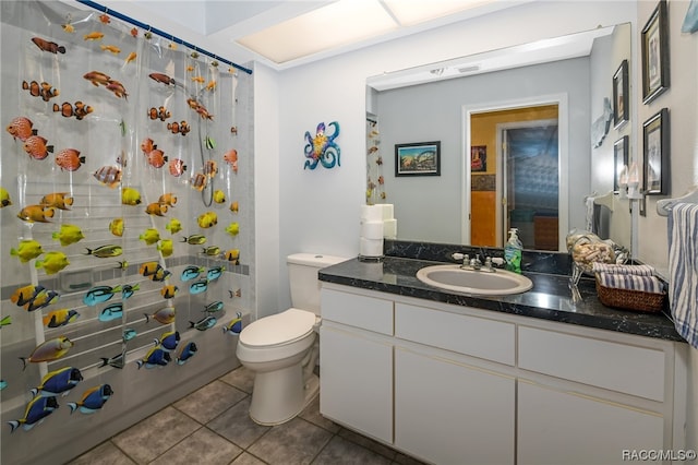
M 321 413 L 417 458 L 685 448 L 686 344 L 328 283 L 322 296 Z

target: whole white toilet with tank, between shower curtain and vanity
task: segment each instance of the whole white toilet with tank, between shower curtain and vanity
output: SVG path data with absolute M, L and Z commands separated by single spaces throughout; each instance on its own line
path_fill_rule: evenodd
M 287 258 L 292 308 L 261 318 L 240 333 L 236 354 L 254 371 L 250 418 L 279 425 L 296 417 L 320 390 L 313 373 L 318 354 L 317 271 L 347 259 L 314 253 Z

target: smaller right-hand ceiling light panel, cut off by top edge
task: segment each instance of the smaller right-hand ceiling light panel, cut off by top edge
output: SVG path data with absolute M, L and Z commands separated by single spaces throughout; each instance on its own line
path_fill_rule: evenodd
M 383 0 L 402 26 L 412 26 L 425 21 L 447 16 L 494 0 Z

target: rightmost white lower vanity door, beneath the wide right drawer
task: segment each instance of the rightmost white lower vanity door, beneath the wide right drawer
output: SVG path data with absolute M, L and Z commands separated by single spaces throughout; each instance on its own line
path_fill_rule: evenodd
M 518 383 L 518 464 L 623 464 L 623 451 L 659 450 L 658 414 L 539 384 Z

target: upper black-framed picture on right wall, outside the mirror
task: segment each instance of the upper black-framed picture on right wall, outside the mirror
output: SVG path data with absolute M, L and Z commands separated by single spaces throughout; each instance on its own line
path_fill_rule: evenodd
M 660 0 L 642 28 L 642 103 L 649 104 L 669 88 L 669 24 L 666 0 Z

